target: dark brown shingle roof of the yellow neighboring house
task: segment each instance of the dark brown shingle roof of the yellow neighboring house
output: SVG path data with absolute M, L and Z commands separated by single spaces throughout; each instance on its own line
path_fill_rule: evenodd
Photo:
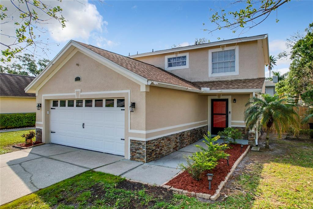
M 24 90 L 33 79 L 35 77 L 0 73 L 0 96 L 36 97 Z

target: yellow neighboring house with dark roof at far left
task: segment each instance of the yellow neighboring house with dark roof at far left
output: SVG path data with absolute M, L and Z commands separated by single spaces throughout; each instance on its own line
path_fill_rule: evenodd
M 24 90 L 34 78 L 0 73 L 0 113 L 36 112 L 36 95 Z

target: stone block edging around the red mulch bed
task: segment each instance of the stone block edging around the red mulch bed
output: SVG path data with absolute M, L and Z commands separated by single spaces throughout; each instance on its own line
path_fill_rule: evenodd
M 177 193 L 181 193 L 183 195 L 189 195 L 189 196 L 195 196 L 195 197 L 202 197 L 204 199 L 208 199 L 208 200 L 217 200 L 217 198 L 220 196 L 220 192 L 223 189 L 223 186 L 226 184 L 226 182 L 228 181 L 229 177 L 233 174 L 233 172 L 235 171 L 235 169 L 237 168 L 238 164 L 240 163 L 240 161 L 242 160 L 242 158 L 244 158 L 244 156 L 246 156 L 246 154 L 248 153 L 250 149 L 250 145 L 248 145 L 247 149 L 244 151 L 244 153 L 242 153 L 242 155 L 240 155 L 240 157 L 236 160 L 236 162 L 233 164 L 233 167 L 230 169 L 229 173 L 227 174 L 227 176 L 225 177 L 225 180 L 223 180 L 219 186 L 218 189 L 215 191 L 214 195 L 209 195 L 209 194 L 205 194 L 205 193 L 195 193 L 195 192 L 189 192 L 187 190 L 182 190 L 182 189 L 177 189 L 174 188 L 172 186 L 166 185 L 170 180 L 174 179 L 176 176 L 178 176 L 179 174 L 181 174 L 182 172 L 184 172 L 184 170 L 181 170 L 178 174 L 176 174 L 175 176 L 173 176 L 170 180 L 168 180 L 167 182 L 164 182 L 161 186 L 170 190 L 173 190 Z

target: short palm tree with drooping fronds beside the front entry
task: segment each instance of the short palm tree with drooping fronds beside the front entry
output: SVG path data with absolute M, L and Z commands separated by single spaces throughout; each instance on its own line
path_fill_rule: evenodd
M 290 128 L 297 135 L 299 133 L 298 114 L 293 109 L 296 104 L 293 99 L 287 96 L 270 96 L 261 94 L 261 98 L 251 98 L 244 111 L 244 121 L 250 130 L 255 126 L 260 130 L 266 130 L 266 145 L 269 148 L 269 131 L 273 127 L 281 137 L 281 133 L 289 131 Z

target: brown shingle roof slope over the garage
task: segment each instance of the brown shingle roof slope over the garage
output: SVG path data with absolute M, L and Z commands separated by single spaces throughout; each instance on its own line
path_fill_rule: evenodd
M 187 88 L 198 89 L 191 82 L 186 81 L 182 78 L 179 78 L 178 76 L 170 72 L 167 72 L 159 67 L 155 67 L 145 62 L 141 62 L 141 61 L 138 61 L 138 60 L 126 57 L 126 56 L 122 56 L 114 52 L 106 51 L 104 49 L 100 49 L 95 46 L 84 44 L 78 41 L 75 41 L 75 42 L 111 60 L 112 62 L 115 62 L 116 64 L 122 67 L 125 67 L 126 69 L 132 72 L 135 72 L 136 74 L 146 79 L 156 81 L 156 82 L 170 83 L 170 84 L 187 87 Z

